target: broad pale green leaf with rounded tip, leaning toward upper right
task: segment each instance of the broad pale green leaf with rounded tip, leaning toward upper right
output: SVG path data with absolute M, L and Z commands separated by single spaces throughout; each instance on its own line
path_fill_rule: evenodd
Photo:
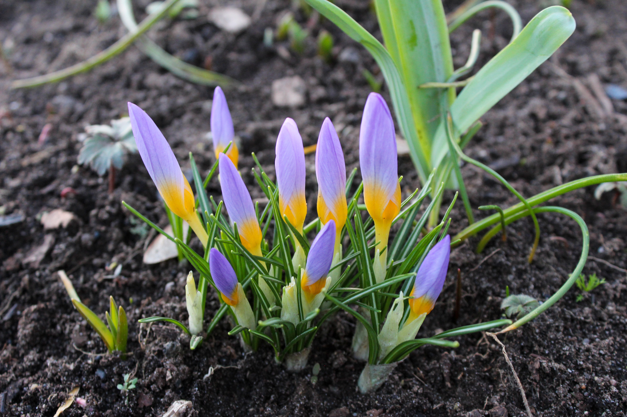
M 519 36 L 478 71 L 451 105 L 456 134 L 463 133 L 546 61 L 575 30 L 571 12 L 552 6 L 536 14 Z M 431 152 L 434 166 L 448 152 L 445 126 Z

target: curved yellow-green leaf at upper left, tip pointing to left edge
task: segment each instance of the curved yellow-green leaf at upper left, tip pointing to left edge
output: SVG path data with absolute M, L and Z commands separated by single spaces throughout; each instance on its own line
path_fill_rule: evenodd
M 161 20 L 161 18 L 165 16 L 172 6 L 174 6 L 174 4 L 178 1 L 179 0 L 167 0 L 161 9 L 150 14 L 144 19 L 144 21 L 142 21 L 142 23 L 139 24 L 139 26 L 137 26 L 137 31 L 125 34 L 116 43 L 112 44 L 104 51 L 95 54 L 92 58 L 69 66 L 68 68 L 65 68 L 65 70 L 55 71 L 50 74 L 40 75 L 33 78 L 25 78 L 24 80 L 13 81 L 11 83 L 11 89 L 14 90 L 16 88 L 36 87 L 47 83 L 56 83 L 57 81 L 61 81 L 70 76 L 91 70 L 95 66 L 108 61 L 113 58 L 113 56 L 116 56 L 120 52 L 124 51 L 124 49 L 128 48 L 130 44 L 134 43 L 137 38 L 150 29 L 150 26 Z

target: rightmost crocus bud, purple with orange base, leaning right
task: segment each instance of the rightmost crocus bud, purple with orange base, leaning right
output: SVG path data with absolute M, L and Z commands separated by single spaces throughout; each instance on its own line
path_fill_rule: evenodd
M 407 323 L 413 321 L 421 314 L 429 314 L 433 310 L 435 301 L 440 296 L 444 286 L 450 255 L 451 237 L 446 235 L 424 257 L 423 263 L 416 274 L 414 287 L 410 293 L 414 298 L 409 299 L 411 313 Z

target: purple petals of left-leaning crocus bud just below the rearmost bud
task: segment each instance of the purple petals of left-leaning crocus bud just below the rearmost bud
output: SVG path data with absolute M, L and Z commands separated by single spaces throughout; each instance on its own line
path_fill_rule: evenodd
M 224 200 L 229 218 L 232 222 L 237 223 L 239 227 L 252 220 L 256 222 L 253 200 L 251 200 L 248 188 L 246 188 L 241 179 L 237 168 L 224 153 L 220 154 L 218 165 L 222 199 Z

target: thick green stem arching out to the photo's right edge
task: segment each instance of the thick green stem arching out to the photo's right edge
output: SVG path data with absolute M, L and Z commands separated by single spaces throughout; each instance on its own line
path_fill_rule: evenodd
M 533 197 L 529 197 L 527 202 L 530 205 L 538 205 L 540 203 L 544 203 L 547 200 L 551 200 L 551 198 L 558 197 L 564 193 L 570 192 L 572 190 L 576 190 L 577 188 L 588 187 L 589 185 L 596 185 L 602 182 L 617 182 L 617 181 L 627 181 L 627 173 L 615 173 L 615 174 L 603 174 L 603 175 L 594 175 L 594 177 L 586 177 L 581 178 L 581 180 L 574 180 L 571 182 L 567 182 L 566 184 L 559 185 L 557 187 L 551 188 L 544 192 L 534 195 Z M 524 210 L 527 210 L 523 203 L 518 203 L 512 205 L 508 209 L 503 210 L 503 214 L 505 218 L 518 214 Z M 466 227 L 461 230 L 458 234 L 456 234 L 451 241 L 455 242 L 455 240 L 465 240 L 468 237 L 476 235 L 478 232 L 486 229 L 487 227 L 492 226 L 493 224 L 497 224 L 500 220 L 500 214 L 493 214 L 485 219 L 479 220 L 474 224 Z

